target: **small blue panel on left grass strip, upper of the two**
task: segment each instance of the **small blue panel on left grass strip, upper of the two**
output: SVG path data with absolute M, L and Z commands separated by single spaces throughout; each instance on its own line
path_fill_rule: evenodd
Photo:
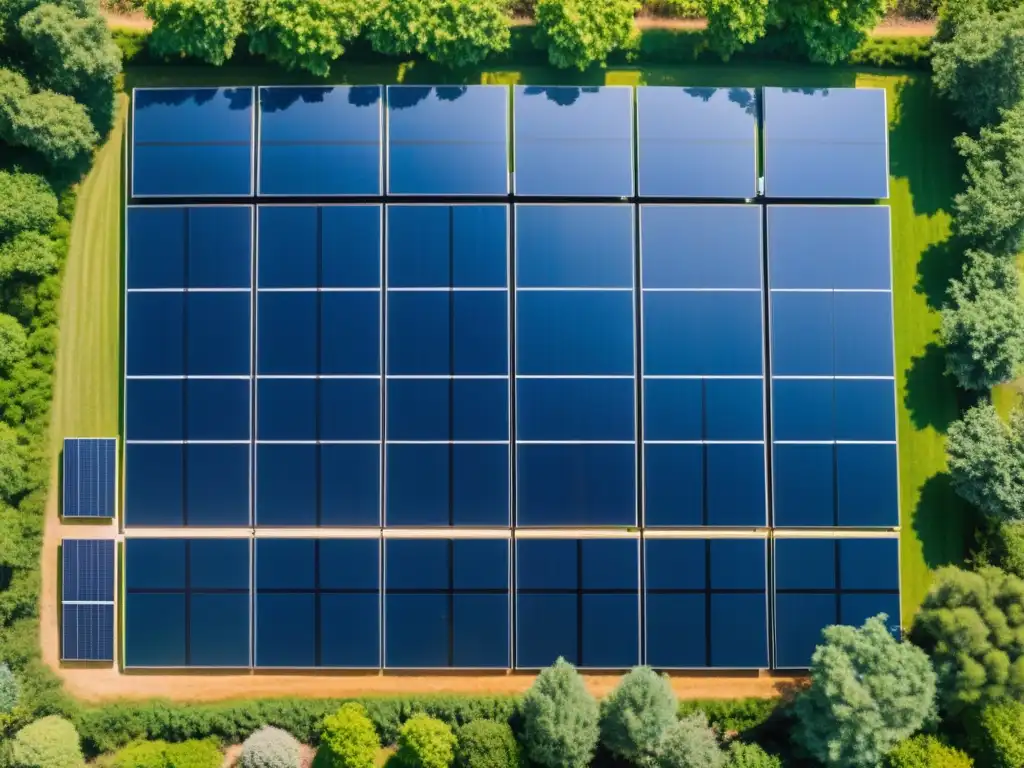
M 114 517 L 117 508 L 116 437 L 66 437 L 63 517 Z

